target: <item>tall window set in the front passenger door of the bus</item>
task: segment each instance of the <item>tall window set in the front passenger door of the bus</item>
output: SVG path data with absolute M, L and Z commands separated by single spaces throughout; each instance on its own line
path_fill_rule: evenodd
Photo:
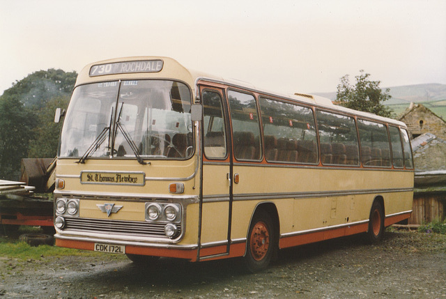
M 204 154 L 207 158 L 226 158 L 226 130 L 222 97 L 214 91 L 203 91 Z

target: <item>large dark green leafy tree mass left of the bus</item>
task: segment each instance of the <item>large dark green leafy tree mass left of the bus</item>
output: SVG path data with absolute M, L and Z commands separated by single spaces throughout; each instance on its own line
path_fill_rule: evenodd
M 77 73 L 39 70 L 0 96 L 0 178 L 17 180 L 22 158 L 53 158 L 60 124 L 54 110 L 66 108 Z

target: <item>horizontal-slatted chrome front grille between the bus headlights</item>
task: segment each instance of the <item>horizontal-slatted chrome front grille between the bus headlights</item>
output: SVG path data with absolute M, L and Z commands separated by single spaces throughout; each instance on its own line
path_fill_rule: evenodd
M 68 217 L 65 220 L 64 231 L 91 231 L 94 233 L 116 233 L 125 236 L 167 238 L 164 235 L 165 223 Z M 178 225 L 178 230 L 180 230 L 180 225 Z

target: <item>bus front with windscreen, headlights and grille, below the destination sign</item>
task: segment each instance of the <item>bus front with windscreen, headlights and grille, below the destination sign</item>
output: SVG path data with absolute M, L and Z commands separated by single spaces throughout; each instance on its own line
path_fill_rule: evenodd
M 199 167 L 192 89 L 159 78 L 162 71 L 157 76 L 78 79 L 59 146 L 56 245 L 194 259 Z

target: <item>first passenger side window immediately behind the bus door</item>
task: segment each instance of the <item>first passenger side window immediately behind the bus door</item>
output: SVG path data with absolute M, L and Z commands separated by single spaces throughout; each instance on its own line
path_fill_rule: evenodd
M 260 160 L 260 124 L 254 95 L 229 90 L 228 99 L 235 158 Z

